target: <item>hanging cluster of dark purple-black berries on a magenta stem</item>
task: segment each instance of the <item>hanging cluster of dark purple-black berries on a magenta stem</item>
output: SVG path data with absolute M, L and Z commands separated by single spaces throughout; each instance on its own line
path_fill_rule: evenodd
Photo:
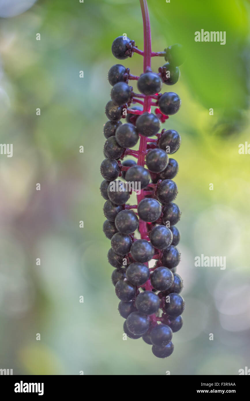
M 121 64 L 111 67 L 108 74 L 112 85 L 111 100 L 106 105 L 108 121 L 104 126 L 105 160 L 101 164 L 101 194 L 105 198 L 106 221 L 103 231 L 111 239 L 109 263 L 115 267 L 112 282 L 119 298 L 119 312 L 125 322 L 123 330 L 129 338 L 140 338 L 152 345 L 152 352 L 165 358 L 173 352 L 172 334 L 182 326 L 183 284 L 176 273 L 180 254 L 176 247 L 180 219 L 179 207 L 173 203 L 177 185 L 173 178 L 178 163 L 169 158 L 175 153 L 181 138 L 175 130 L 160 130 L 161 122 L 177 113 L 181 100 L 174 92 L 160 93 L 162 84 L 173 85 L 179 79 L 182 63 L 180 45 L 162 53 L 151 52 L 151 34 L 147 2 L 140 0 L 144 24 L 144 51 L 124 36 L 112 44 L 113 55 L 120 60 L 133 53 L 143 55 L 144 72 L 140 77 L 130 74 Z M 166 64 L 158 73 L 151 71 L 151 57 L 164 56 Z M 137 81 L 139 93 L 129 86 Z M 142 107 L 131 107 L 139 103 Z M 156 106 L 151 113 L 151 106 Z M 121 119 L 126 118 L 125 124 Z M 155 137 L 155 138 L 152 138 Z M 139 141 L 139 150 L 132 150 Z M 137 159 L 125 159 L 132 155 Z M 147 166 L 145 168 L 144 166 Z M 118 177 L 125 179 L 116 180 Z M 135 188 L 139 183 L 137 205 L 128 205 L 131 195 L 125 183 Z M 134 185 L 133 185 L 134 184 Z M 135 209 L 133 211 L 132 209 Z M 136 238 L 139 232 L 140 238 Z M 149 261 L 155 265 L 149 268 Z

